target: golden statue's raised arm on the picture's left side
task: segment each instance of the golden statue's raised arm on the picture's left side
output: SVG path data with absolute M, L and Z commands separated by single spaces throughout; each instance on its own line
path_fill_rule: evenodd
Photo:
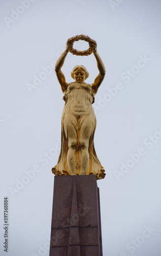
M 64 76 L 63 72 L 61 71 L 61 68 L 64 64 L 64 60 L 67 56 L 67 53 L 68 53 L 68 49 L 66 48 L 66 50 L 61 54 L 61 56 L 57 60 L 56 66 L 55 66 L 55 71 L 56 71 L 56 74 L 57 74 L 57 77 L 58 77 L 58 80 L 61 85 L 63 93 L 67 89 L 67 83 L 65 80 L 65 76 Z

